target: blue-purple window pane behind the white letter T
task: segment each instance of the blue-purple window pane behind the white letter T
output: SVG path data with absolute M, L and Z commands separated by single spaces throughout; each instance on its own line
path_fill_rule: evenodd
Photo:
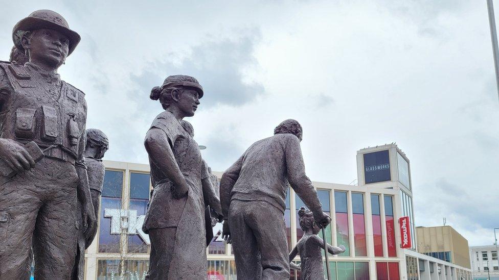
M 99 252 L 100 253 L 118 253 L 120 252 L 120 235 L 111 235 L 111 218 L 104 217 L 105 209 L 121 209 L 120 198 L 101 198 L 101 213 L 99 220 Z M 112 221 L 120 223 L 120 220 Z M 121 228 L 121 225 L 118 224 Z

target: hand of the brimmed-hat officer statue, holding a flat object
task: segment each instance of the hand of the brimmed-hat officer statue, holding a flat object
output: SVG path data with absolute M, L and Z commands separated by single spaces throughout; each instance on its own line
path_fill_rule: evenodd
M 0 138 L 0 158 L 16 172 L 30 170 L 35 166 L 29 152 L 12 139 Z

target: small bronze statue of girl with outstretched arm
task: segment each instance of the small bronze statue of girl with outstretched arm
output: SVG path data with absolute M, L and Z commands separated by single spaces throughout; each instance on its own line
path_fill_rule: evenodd
M 324 240 L 317 235 L 321 229 L 315 223 L 312 212 L 306 210 L 305 207 L 298 210 L 298 216 L 304 234 L 289 253 L 289 261 L 291 262 L 297 254 L 300 255 L 302 280 L 324 279 L 324 262 L 322 261 Z M 341 254 L 345 251 L 345 246 L 334 247 L 328 244 L 327 249 L 331 254 Z

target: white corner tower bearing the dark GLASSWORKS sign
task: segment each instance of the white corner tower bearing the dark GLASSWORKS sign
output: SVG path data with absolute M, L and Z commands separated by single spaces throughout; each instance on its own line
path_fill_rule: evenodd
M 389 188 L 400 194 L 400 216 L 409 217 L 410 249 L 416 250 L 413 193 L 409 159 L 396 144 L 369 147 L 357 151 L 359 186 Z

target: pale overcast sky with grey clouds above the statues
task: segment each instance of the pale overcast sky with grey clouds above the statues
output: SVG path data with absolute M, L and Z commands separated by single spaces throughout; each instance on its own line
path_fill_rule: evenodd
M 1 0 L 0 59 L 18 20 L 57 11 L 81 35 L 59 72 L 86 93 L 106 159 L 147 163 L 144 135 L 162 111 L 150 90 L 189 74 L 205 88 L 188 120 L 213 170 L 287 118 L 303 125 L 313 181 L 349 184 L 358 149 L 396 142 L 416 225 L 446 217 L 469 245 L 492 244 L 499 101 L 485 1 L 376 3 Z

